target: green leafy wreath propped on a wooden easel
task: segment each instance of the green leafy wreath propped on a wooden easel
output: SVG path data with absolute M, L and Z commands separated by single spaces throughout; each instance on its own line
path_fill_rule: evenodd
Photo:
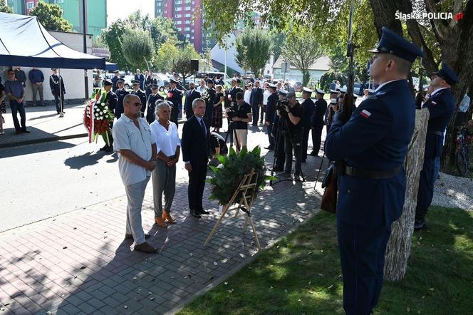
M 255 195 L 264 188 L 266 180 L 273 179 L 271 176 L 264 175 L 266 167 L 259 146 L 251 151 L 243 149 L 238 154 L 230 148 L 228 156 L 217 155 L 217 159 L 220 162 L 217 167 L 209 165 L 214 175 L 207 182 L 212 185 L 209 199 L 218 200 L 220 205 L 226 205 L 229 202 L 244 175 L 252 169 L 258 173 Z

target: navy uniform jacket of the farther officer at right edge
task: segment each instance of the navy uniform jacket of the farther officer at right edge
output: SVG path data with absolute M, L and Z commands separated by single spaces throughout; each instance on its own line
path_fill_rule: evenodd
M 435 135 L 432 132 L 445 132 L 455 110 L 455 98 L 449 88 L 444 88 L 432 95 L 422 108 L 428 108 L 430 113 L 424 157 L 437 158 L 442 155 L 443 135 Z

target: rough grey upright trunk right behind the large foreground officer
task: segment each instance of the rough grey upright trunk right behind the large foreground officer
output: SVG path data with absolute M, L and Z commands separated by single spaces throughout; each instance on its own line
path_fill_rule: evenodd
M 414 232 L 419 175 L 424 163 L 428 120 L 427 108 L 415 111 L 415 130 L 404 163 L 407 187 L 404 209 L 399 220 L 392 225 L 393 232 L 386 249 L 384 274 L 385 279 L 392 282 L 400 281 L 407 271 L 407 259 L 410 256 L 410 244 Z

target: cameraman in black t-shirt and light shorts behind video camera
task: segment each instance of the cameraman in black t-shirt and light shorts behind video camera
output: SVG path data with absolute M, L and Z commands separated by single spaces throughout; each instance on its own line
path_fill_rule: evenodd
M 248 123 L 251 122 L 253 117 L 251 116 L 251 105 L 244 101 L 243 93 L 238 92 L 236 97 L 237 103 L 233 106 L 235 112 L 234 118 L 232 118 L 233 129 L 235 136 L 237 137 L 237 152 L 240 148 L 246 148 L 246 140 L 248 138 Z

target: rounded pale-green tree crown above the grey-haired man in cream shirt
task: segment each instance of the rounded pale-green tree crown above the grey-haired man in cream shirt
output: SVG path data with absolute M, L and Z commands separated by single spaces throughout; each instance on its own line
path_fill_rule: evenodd
M 147 68 L 154 51 L 150 33 L 140 29 L 126 29 L 121 37 L 121 46 L 125 60 L 134 68 Z

